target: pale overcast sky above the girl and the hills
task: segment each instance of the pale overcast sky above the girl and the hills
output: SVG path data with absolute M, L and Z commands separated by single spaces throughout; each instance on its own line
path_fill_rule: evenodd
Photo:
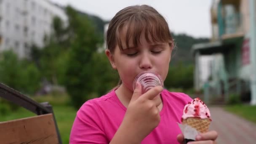
M 121 9 L 130 5 L 147 4 L 167 20 L 172 32 L 193 37 L 211 37 L 210 8 L 212 0 L 50 0 L 71 5 L 79 11 L 111 20 Z

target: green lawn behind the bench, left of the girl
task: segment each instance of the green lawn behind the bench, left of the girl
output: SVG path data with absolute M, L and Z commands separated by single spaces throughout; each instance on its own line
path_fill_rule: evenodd
M 35 99 L 37 102 L 50 102 L 50 104 L 53 106 L 53 112 L 61 134 L 62 143 L 68 144 L 70 130 L 72 128 L 72 124 L 77 112 L 77 110 L 67 104 L 69 102 L 68 96 L 42 96 L 33 99 Z M 27 109 L 19 108 L 17 111 L 8 112 L 6 115 L 2 115 L 0 113 L 0 122 L 31 116 L 35 116 L 35 114 L 28 111 Z

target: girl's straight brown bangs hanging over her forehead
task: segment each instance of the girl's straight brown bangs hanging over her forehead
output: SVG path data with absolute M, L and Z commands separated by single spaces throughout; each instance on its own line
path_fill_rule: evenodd
M 168 24 L 163 17 L 149 17 L 144 13 L 136 13 L 117 27 L 117 45 L 121 50 L 138 47 L 141 45 L 140 38 L 142 34 L 144 34 L 147 43 L 169 43 L 169 45 L 172 45 L 173 39 Z M 122 40 L 125 40 L 125 42 L 122 43 Z

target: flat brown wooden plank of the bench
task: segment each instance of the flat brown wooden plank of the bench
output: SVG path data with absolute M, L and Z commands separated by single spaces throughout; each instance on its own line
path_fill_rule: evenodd
M 0 122 L 1 144 L 59 144 L 52 114 Z

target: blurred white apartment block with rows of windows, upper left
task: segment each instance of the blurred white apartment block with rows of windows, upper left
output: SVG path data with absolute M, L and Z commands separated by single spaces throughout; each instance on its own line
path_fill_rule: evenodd
M 0 0 L 0 52 L 13 49 L 27 57 L 32 44 L 43 47 L 54 16 L 67 25 L 64 10 L 48 0 Z

